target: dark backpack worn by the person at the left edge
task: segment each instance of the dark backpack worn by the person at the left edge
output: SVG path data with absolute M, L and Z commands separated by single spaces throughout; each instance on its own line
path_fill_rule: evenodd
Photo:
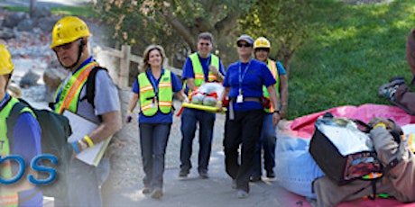
M 72 134 L 69 125 L 69 120 L 63 115 L 60 115 L 49 110 L 40 110 L 33 108 L 29 103 L 23 99 L 19 99 L 19 103 L 14 104 L 14 107 L 7 118 L 7 137 L 10 143 L 13 143 L 13 127 L 17 118 L 21 114 L 24 107 L 29 107 L 36 115 L 42 129 L 42 154 L 51 154 L 58 158 L 58 165 L 52 164 L 50 160 L 42 160 L 42 166 L 50 166 L 56 170 L 56 178 L 50 184 L 37 185 L 42 193 L 50 197 L 64 198 L 68 194 L 68 175 L 69 163 L 73 154 L 72 145 L 67 142 L 67 139 Z M 39 174 L 40 179 L 46 179 L 49 175 Z

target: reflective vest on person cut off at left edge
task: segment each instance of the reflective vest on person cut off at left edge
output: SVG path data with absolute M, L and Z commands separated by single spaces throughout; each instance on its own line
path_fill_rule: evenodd
M 3 110 L 0 112 L 0 155 L 2 157 L 6 157 L 10 155 L 10 143 L 9 139 L 7 138 L 7 122 L 6 119 L 9 117 L 10 112 L 12 112 L 14 104 L 18 103 L 19 101 L 15 98 L 11 98 L 8 103 L 6 103 Z M 28 107 L 23 108 L 21 112 L 31 112 L 34 116 L 32 110 Z M 35 116 L 34 116 L 35 117 Z M 5 160 L 0 165 L 0 176 L 3 179 L 12 179 L 12 165 L 10 160 Z M 6 207 L 17 207 L 18 206 L 18 194 L 17 193 L 2 193 L 0 190 L 0 206 Z

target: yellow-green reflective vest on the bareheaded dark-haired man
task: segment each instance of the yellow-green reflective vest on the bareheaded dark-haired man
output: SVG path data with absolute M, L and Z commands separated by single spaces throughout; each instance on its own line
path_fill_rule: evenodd
M 191 60 L 191 65 L 193 66 L 193 72 L 195 73 L 195 86 L 198 87 L 205 83 L 205 73 L 203 72 L 203 67 L 200 63 L 200 59 L 198 58 L 197 52 L 191 54 L 189 58 Z M 214 66 L 217 67 L 217 69 L 219 69 L 219 58 L 214 54 L 210 54 L 210 66 Z M 208 82 L 214 81 L 217 81 L 217 76 L 209 70 Z

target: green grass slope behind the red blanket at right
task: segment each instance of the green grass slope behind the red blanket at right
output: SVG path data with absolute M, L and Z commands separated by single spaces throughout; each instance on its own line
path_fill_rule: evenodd
M 292 60 L 289 119 L 340 105 L 390 104 L 377 89 L 392 76 L 410 81 L 405 42 L 414 3 L 318 2 L 315 29 Z

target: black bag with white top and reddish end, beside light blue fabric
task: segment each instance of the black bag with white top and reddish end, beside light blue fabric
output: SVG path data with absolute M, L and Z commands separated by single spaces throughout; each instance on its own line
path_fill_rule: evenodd
M 359 178 L 382 177 L 383 166 L 376 157 L 368 134 L 372 128 L 363 121 L 334 117 L 327 112 L 318 118 L 315 128 L 309 153 L 321 170 L 338 185 Z

